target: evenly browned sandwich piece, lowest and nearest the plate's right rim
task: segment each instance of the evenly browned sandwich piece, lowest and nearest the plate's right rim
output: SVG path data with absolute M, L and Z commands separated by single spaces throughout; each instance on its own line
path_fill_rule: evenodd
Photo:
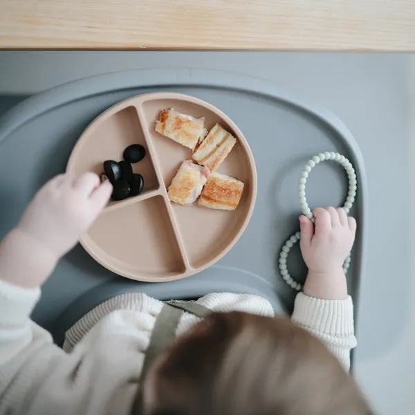
M 198 204 L 205 208 L 234 210 L 241 201 L 243 183 L 236 178 L 212 172 Z

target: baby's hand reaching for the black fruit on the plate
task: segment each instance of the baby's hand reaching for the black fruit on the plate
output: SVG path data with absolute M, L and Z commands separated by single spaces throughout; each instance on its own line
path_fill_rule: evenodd
M 109 181 L 100 185 L 93 173 L 56 176 L 37 192 L 17 228 L 59 259 L 95 221 L 111 191 Z

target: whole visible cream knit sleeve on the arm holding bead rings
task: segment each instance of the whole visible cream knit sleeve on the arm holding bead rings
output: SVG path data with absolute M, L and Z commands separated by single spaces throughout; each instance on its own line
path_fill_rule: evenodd
M 350 351 L 356 347 L 350 296 L 343 300 L 329 300 L 299 293 L 291 320 L 321 340 L 349 371 Z

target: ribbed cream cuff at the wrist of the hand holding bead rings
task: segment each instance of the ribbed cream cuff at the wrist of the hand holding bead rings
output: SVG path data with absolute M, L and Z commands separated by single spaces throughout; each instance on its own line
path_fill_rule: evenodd
M 353 335 L 353 302 L 346 299 L 320 299 L 299 293 L 291 320 L 310 331 L 328 335 Z

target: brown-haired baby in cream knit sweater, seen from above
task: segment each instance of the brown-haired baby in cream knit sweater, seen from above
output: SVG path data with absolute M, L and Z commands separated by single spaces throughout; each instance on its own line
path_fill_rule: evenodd
M 1 242 L 0 415 L 371 414 L 347 374 L 356 338 L 342 264 L 356 221 L 342 209 L 299 218 L 308 276 L 291 321 L 255 295 L 164 304 L 130 293 L 53 344 L 30 320 L 40 286 L 111 190 L 92 173 L 57 176 Z

